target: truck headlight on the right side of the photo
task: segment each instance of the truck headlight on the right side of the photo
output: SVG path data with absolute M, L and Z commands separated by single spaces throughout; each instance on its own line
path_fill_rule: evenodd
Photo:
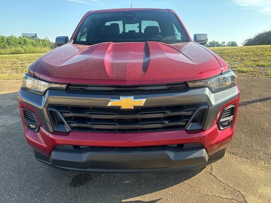
M 208 87 L 214 93 L 235 86 L 235 78 L 236 75 L 231 69 L 229 69 L 223 74 L 217 75 L 213 78 L 191 81 L 187 82 L 187 84 L 190 88 Z

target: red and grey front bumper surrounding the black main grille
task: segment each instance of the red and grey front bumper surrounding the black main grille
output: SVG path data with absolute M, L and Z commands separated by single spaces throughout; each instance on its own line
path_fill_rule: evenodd
M 238 108 L 235 108 L 235 118 L 229 128 L 219 130 L 216 123 L 224 108 L 230 105 L 238 107 L 239 90 L 237 86 L 217 93 L 210 92 L 208 88 L 199 88 L 182 93 L 141 94 L 137 96 L 139 98 L 148 98 L 145 103 L 146 106 L 205 102 L 209 108 L 203 129 L 113 134 L 75 131 L 68 133 L 54 132 L 47 114 L 47 107 L 50 104 L 106 106 L 110 98 L 117 98 L 119 95 L 75 94 L 61 90 L 48 90 L 47 93 L 42 96 L 20 90 L 18 100 L 26 140 L 35 150 L 35 155 L 38 160 L 67 170 L 133 172 L 196 169 L 223 157 L 223 152 L 231 141 L 234 133 L 234 124 Z M 23 108 L 35 113 L 41 125 L 38 132 L 27 128 L 23 118 Z M 190 157 L 190 155 L 186 156 L 186 152 L 180 152 L 177 155 L 172 153 L 169 155 L 166 151 L 155 154 L 149 152 L 144 154 L 140 152 L 139 154 L 117 154 L 117 156 L 116 154 L 110 154 L 108 152 L 103 152 L 100 155 L 95 154 L 94 156 L 92 152 L 88 152 L 86 154 L 76 154 L 76 157 L 74 157 L 74 154 L 70 152 L 59 153 L 55 151 L 55 146 L 59 144 L 95 147 L 143 147 L 195 142 L 201 143 L 203 148 L 199 150 L 200 152 L 191 152 L 192 154 L 190 155 L 193 157 L 192 159 L 187 158 Z M 194 156 L 195 154 L 205 155 Z M 61 156 L 63 157 L 61 158 Z M 74 159 L 72 157 L 74 157 Z M 133 161 L 137 163 L 136 165 L 129 161 L 133 160 L 131 157 L 137 160 Z M 147 158 L 148 161 L 146 161 L 145 158 Z M 95 165 L 93 159 L 99 159 L 101 162 L 96 162 Z M 97 167 L 98 165 L 102 167 Z

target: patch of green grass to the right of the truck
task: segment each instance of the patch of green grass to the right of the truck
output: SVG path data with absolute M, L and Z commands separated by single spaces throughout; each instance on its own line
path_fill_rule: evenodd
M 238 76 L 271 78 L 271 45 L 210 48 Z

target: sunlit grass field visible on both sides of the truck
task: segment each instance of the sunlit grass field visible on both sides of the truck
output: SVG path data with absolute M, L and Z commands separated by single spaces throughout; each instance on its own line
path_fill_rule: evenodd
M 237 76 L 271 78 L 271 45 L 213 47 Z M 18 80 L 28 66 L 43 54 L 0 55 L 0 80 Z

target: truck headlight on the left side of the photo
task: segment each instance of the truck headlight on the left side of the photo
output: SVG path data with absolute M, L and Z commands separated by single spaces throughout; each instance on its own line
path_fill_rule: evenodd
M 24 90 L 35 92 L 38 94 L 44 94 L 48 89 L 65 90 L 67 87 L 66 84 L 56 84 L 56 83 L 45 82 L 37 78 L 33 78 L 29 74 L 23 75 L 22 80 L 23 80 L 22 88 Z

